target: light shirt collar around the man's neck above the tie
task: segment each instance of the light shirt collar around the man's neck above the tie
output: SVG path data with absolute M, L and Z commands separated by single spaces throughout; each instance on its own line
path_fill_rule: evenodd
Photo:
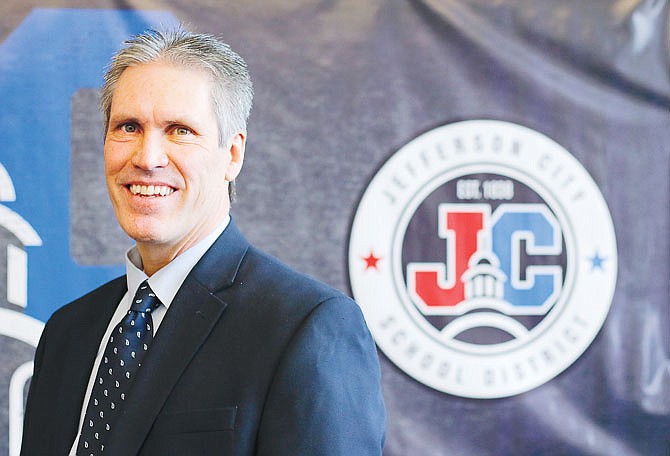
M 161 303 L 166 308 L 169 308 L 177 291 L 179 291 L 184 280 L 186 280 L 188 273 L 191 272 L 193 266 L 200 261 L 200 258 L 223 233 L 228 223 L 230 223 L 230 216 L 227 216 L 223 223 L 211 233 L 156 271 L 151 277 L 148 277 L 142 270 L 142 258 L 137 250 L 137 246 L 131 247 L 126 252 L 126 284 L 128 286 L 128 293 L 132 293 L 131 296 L 134 296 L 140 284 L 149 279 L 149 286 L 153 292 L 158 296 Z

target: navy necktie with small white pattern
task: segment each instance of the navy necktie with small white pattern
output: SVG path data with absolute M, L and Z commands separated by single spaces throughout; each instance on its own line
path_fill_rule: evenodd
M 151 311 L 160 304 L 145 280 L 137 290 L 128 314 L 112 331 L 86 408 L 77 456 L 104 453 L 107 437 L 114 432 L 115 420 L 153 339 Z

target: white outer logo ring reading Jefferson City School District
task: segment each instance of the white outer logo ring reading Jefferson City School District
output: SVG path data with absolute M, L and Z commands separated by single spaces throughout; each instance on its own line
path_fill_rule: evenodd
M 465 144 L 456 147 L 457 141 Z M 412 195 L 459 167 L 494 163 L 534 176 L 562 207 L 574 231 L 561 314 L 541 335 L 499 353 L 467 353 L 440 343 L 417 326 L 394 279 L 399 261 L 394 231 Z M 572 242 L 571 242 L 572 243 Z M 378 269 L 361 267 L 374 252 Z M 605 258 L 594 269 L 589 256 Z M 471 120 L 438 127 L 400 148 L 377 172 L 359 203 L 349 243 L 354 298 L 380 349 L 408 375 L 445 393 L 497 398 L 536 388 L 568 368 L 588 348 L 607 316 L 616 283 L 614 228 L 604 198 L 581 164 L 562 146 L 529 128 Z M 567 282 L 566 282 L 567 284 Z M 560 300 L 561 298 L 559 298 Z

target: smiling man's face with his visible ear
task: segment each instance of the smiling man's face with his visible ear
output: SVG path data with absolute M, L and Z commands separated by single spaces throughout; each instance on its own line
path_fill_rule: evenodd
M 219 144 L 212 83 L 166 63 L 130 67 L 114 90 L 105 175 L 116 217 L 142 249 L 167 261 L 229 211 L 228 181 L 242 165 L 244 133 Z

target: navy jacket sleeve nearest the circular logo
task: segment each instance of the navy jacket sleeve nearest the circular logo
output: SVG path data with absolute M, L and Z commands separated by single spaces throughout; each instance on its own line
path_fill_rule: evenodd
M 258 455 L 381 455 L 385 426 L 379 359 L 363 315 L 348 298 L 328 299 L 281 359 Z

